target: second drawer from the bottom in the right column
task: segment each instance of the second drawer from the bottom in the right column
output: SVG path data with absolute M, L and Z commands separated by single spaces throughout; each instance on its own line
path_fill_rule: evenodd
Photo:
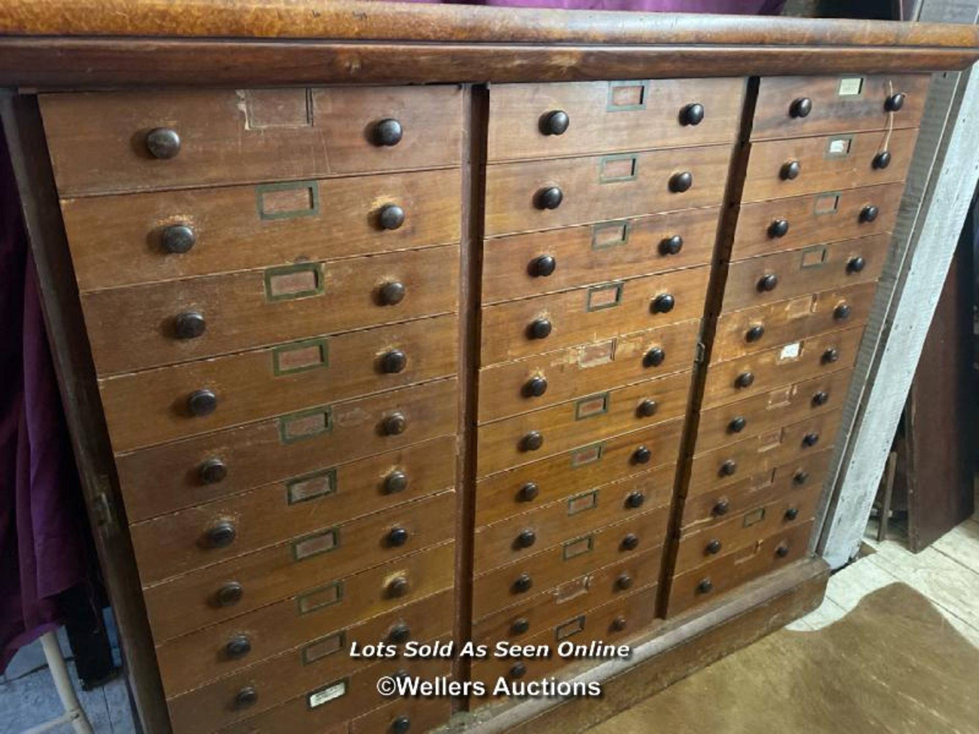
M 810 487 L 806 492 L 782 497 L 743 513 L 731 514 L 712 528 L 687 533 L 680 538 L 676 548 L 674 573 L 686 573 L 730 553 L 737 553 L 774 533 L 811 524 L 822 496 L 820 488 Z

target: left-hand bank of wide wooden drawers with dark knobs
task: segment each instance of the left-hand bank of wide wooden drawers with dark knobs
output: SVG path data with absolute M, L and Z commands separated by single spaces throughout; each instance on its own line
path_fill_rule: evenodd
M 441 724 L 349 650 L 453 632 L 461 90 L 41 107 L 175 731 Z

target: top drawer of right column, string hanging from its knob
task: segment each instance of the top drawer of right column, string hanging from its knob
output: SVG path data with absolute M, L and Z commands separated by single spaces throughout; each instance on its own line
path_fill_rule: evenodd
M 827 132 L 917 127 L 930 74 L 763 76 L 752 122 L 752 140 Z M 889 100 L 901 95 L 900 109 Z M 808 113 L 806 111 L 808 100 Z

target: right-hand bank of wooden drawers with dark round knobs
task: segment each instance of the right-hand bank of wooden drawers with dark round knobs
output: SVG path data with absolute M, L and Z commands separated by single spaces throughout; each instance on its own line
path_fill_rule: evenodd
M 760 80 L 668 616 L 808 553 L 927 87 Z

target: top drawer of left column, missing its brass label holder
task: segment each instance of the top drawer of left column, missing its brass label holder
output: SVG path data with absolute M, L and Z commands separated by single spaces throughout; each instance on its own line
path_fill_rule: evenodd
M 461 160 L 457 86 L 170 90 L 42 95 L 41 113 L 62 196 L 254 183 L 455 165 Z M 396 119 L 396 145 L 376 125 Z M 174 130 L 179 153 L 148 148 Z

